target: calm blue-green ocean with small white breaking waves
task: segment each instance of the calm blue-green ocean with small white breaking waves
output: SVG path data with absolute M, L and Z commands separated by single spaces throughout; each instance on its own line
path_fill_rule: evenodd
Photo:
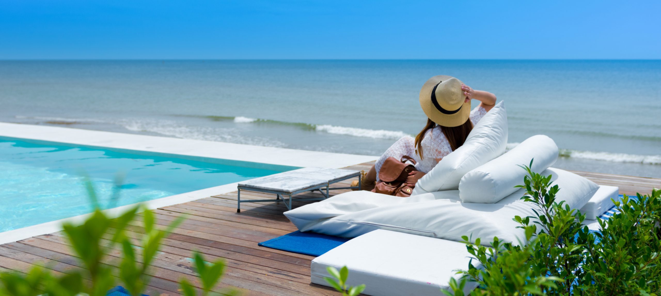
M 0 121 L 380 155 L 422 129 L 434 75 L 506 102 L 510 147 L 661 178 L 659 60 L 0 61 Z

